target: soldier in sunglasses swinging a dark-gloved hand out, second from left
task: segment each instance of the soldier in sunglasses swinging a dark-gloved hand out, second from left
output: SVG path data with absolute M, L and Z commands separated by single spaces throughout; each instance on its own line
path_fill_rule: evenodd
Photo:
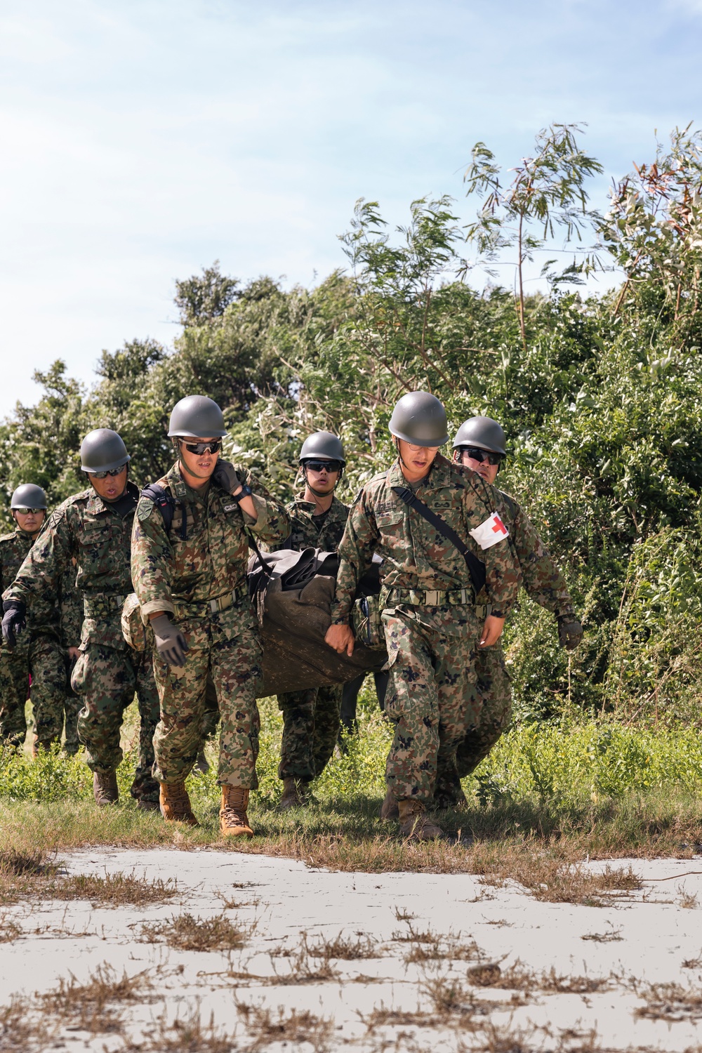
M 151 774 L 158 695 L 151 655 L 124 642 L 122 603 L 132 591 L 129 549 L 139 491 L 128 479 L 129 455 L 107 428 L 89 432 L 80 448 L 91 485 L 56 509 L 3 597 L 2 633 L 8 644 L 24 628 L 25 611 L 55 594 L 75 557 L 76 584 L 83 597 L 80 656 L 72 684 L 83 702 L 78 735 L 93 771 L 93 792 L 102 807 L 119 797 L 116 769 L 122 759 L 122 714 L 139 701 L 141 732 L 132 796 L 137 807 L 158 809 L 158 784 Z M 71 572 L 69 572 L 71 573 Z

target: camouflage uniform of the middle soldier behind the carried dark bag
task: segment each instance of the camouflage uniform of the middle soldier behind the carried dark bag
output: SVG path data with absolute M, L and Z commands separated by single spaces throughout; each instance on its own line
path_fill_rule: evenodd
M 344 533 L 348 508 L 334 497 L 324 516 L 315 515 L 315 502 L 305 501 L 304 491 L 286 506 L 290 536 L 282 548 L 321 549 L 336 552 Z M 326 768 L 339 737 L 343 687 L 308 688 L 278 695 L 283 714 L 278 775 L 281 779 L 309 781 Z

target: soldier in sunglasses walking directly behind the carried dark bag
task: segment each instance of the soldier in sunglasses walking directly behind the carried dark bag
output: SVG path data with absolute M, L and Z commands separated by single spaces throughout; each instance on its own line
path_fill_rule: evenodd
M 304 490 L 287 505 L 290 536 L 281 548 L 336 552 L 348 509 L 335 497 L 346 458 L 341 440 L 330 432 L 307 436 L 300 451 Z M 283 780 L 280 810 L 304 804 L 314 778 L 324 771 L 339 737 L 341 686 L 288 691 L 278 695 L 283 739 L 278 776 Z

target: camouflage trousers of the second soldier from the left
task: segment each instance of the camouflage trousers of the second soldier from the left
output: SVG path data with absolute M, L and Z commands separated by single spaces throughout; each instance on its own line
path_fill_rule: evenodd
M 122 760 L 120 731 L 124 710 L 134 701 L 139 707 L 139 751 L 137 770 L 129 793 L 143 800 L 158 800 L 158 783 L 152 775 L 154 731 L 159 704 L 154 682 L 152 655 L 109 648 L 101 643 L 82 644 L 71 684 L 82 702 L 78 716 L 78 737 L 85 747 L 91 771 L 114 771 Z

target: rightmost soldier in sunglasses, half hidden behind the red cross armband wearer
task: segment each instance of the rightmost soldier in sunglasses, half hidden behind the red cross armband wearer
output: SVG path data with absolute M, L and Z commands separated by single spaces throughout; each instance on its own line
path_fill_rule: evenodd
M 459 428 L 454 439 L 454 461 L 495 483 L 500 463 L 506 456 L 505 434 L 490 417 L 472 417 Z M 498 491 L 500 517 L 509 530 L 509 547 L 520 571 L 520 584 L 530 599 L 553 611 L 561 647 L 573 651 L 582 638 L 573 600 L 562 573 L 543 547 L 524 510 L 513 497 Z M 487 756 L 512 716 L 512 689 L 502 644 L 478 653 L 478 692 L 482 699 L 480 723 L 460 741 L 456 768 L 447 763 L 439 771 L 435 803 L 449 808 L 465 802 L 460 779 L 470 775 Z

